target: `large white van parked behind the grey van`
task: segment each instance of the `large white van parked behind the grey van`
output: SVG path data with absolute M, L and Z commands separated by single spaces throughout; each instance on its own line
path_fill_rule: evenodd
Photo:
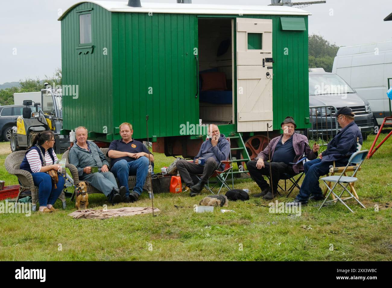
M 378 125 L 390 116 L 387 85 L 392 78 L 392 41 L 340 47 L 332 72 L 369 101 Z

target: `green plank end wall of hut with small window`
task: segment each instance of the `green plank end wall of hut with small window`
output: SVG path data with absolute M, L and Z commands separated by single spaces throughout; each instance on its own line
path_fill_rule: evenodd
M 93 53 L 78 54 L 77 10 L 91 11 Z M 102 133 L 113 130 L 113 92 L 111 62 L 111 13 L 93 3 L 77 5 L 61 21 L 62 84 L 78 85 L 78 98 L 63 96 L 63 129 L 85 126 Z M 107 48 L 107 55 L 103 54 Z

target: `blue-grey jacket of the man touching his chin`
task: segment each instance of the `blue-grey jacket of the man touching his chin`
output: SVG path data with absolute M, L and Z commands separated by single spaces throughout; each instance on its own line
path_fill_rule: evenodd
M 193 162 L 200 157 L 205 158 L 205 160 L 207 160 L 210 157 L 213 157 L 216 163 L 220 165 L 219 168 L 223 169 L 225 168 L 225 164 L 220 163 L 220 161 L 227 160 L 227 158 L 229 158 L 229 154 L 230 154 L 230 143 L 225 138 L 225 135 L 221 134 L 218 139 L 218 144 L 216 144 L 214 147 L 212 147 L 211 138 L 205 140 L 203 144 L 201 144 L 199 153 L 193 159 Z

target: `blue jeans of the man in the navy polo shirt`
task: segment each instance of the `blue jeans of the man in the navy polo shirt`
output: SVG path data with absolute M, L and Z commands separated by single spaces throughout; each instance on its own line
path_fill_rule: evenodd
M 128 177 L 130 175 L 136 175 L 136 185 L 133 188 L 133 192 L 142 194 L 144 182 L 148 173 L 149 159 L 145 156 L 139 159 L 127 162 L 125 159 L 121 159 L 114 163 L 111 171 L 117 177 L 118 186 L 124 186 L 127 189 L 125 196 L 129 196 Z

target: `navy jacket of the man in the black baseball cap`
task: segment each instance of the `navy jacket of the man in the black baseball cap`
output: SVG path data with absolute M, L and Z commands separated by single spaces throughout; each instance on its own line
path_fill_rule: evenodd
M 329 141 L 327 150 L 321 153 L 323 156 L 321 162 L 336 161 L 345 158 L 348 161 L 351 154 L 357 150 L 357 138 L 359 138 L 359 144 L 362 145 L 362 134 L 359 131 L 357 124 L 352 121 Z

